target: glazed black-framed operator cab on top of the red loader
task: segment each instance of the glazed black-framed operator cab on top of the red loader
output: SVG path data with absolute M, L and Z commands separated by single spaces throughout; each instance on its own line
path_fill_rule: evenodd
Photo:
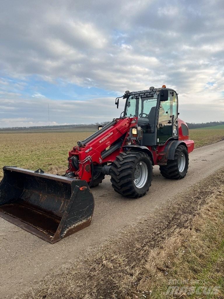
M 164 144 L 178 139 L 178 98 L 173 89 L 155 89 L 129 92 L 124 117 L 137 117 L 142 128 L 142 145 Z

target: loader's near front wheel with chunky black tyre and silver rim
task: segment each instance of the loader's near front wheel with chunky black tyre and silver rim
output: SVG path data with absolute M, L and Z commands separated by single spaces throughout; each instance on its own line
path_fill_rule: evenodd
M 121 152 L 111 167 L 113 189 L 126 197 L 142 197 L 151 186 L 152 162 L 144 152 Z

